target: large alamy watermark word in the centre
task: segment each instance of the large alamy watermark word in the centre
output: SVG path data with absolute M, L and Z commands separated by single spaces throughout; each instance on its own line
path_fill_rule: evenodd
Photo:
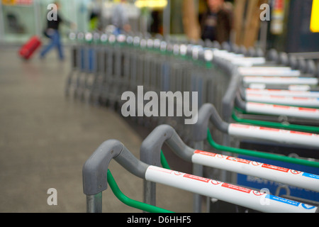
M 184 114 L 185 124 L 194 124 L 198 120 L 198 92 L 159 92 L 158 96 L 156 92 L 152 91 L 144 94 L 144 87 L 138 86 L 137 94 L 136 97 L 134 92 L 123 92 L 121 100 L 125 103 L 121 112 L 124 117 L 181 117 Z M 174 110 L 176 115 L 174 115 Z

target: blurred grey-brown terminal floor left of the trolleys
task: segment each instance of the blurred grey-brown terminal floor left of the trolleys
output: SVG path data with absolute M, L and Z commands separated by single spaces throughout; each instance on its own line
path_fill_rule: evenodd
M 82 167 L 107 139 L 118 139 L 139 157 L 142 130 L 110 109 L 65 96 L 70 70 L 52 51 L 44 60 L 18 57 L 18 47 L 0 47 L 0 212 L 86 212 Z M 145 133 L 146 134 L 146 133 Z M 142 201 L 142 179 L 112 161 L 110 170 L 121 191 Z M 48 189 L 57 190 L 49 205 Z M 192 211 L 192 196 L 157 187 L 157 206 Z M 174 198 L 174 199 L 172 199 Z M 111 189 L 103 192 L 103 212 L 141 212 L 130 208 Z

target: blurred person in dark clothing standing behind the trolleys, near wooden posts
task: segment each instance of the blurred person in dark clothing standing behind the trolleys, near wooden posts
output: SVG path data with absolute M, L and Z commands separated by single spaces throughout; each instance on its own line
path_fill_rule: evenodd
M 224 0 L 207 0 L 208 11 L 201 20 L 202 40 L 217 40 L 218 43 L 230 41 L 232 29 L 232 10 Z

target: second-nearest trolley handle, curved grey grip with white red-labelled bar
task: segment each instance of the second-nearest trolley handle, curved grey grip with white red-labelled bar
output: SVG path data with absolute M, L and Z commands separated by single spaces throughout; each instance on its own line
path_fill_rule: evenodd
M 183 143 L 183 141 L 181 141 L 181 138 L 179 138 L 179 135 L 174 131 L 174 128 L 172 128 L 172 126 L 162 125 L 158 126 L 152 131 L 152 133 L 150 134 L 151 136 L 148 136 L 145 139 L 147 140 L 147 144 L 150 146 L 150 150 L 147 150 L 147 153 L 145 153 L 145 155 L 148 155 L 150 157 L 152 155 L 159 156 L 156 153 L 156 150 L 152 149 L 152 147 L 157 146 L 158 144 L 162 145 L 162 142 L 159 142 L 163 140 L 160 139 L 160 135 L 167 134 L 167 132 L 169 132 L 170 135 L 172 134 L 172 137 L 175 138 L 174 140 L 172 140 L 172 137 L 167 139 L 168 145 L 171 148 L 174 147 L 172 148 L 174 154 L 178 155 L 179 157 L 184 157 L 184 159 L 188 158 L 188 160 L 186 161 L 189 161 L 191 163 L 205 165 L 208 167 L 217 167 L 222 170 L 233 171 L 244 175 L 252 175 L 254 177 L 270 179 L 281 183 L 291 184 L 293 186 L 302 187 L 313 190 L 315 192 L 319 192 L 318 176 L 315 176 L 313 178 L 301 177 L 301 175 L 291 174 L 291 172 L 293 172 L 294 170 L 289 170 L 283 167 L 267 165 L 261 162 L 258 162 L 257 165 L 254 165 L 250 160 L 244 160 L 241 158 L 224 155 L 217 155 L 215 153 L 208 153 L 206 151 L 189 148 L 187 147 L 187 145 Z M 159 140 L 156 140 L 156 138 L 159 138 Z M 189 157 L 191 157 L 190 160 Z M 153 165 L 153 163 L 147 164 Z M 274 170 L 279 169 L 285 171 L 278 172 L 278 176 L 274 177 Z M 308 174 L 306 173 L 305 175 Z

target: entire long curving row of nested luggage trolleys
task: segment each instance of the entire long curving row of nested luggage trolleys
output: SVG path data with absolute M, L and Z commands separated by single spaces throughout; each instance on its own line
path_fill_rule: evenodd
M 118 140 L 100 145 L 83 167 L 87 211 L 101 211 L 101 193 L 109 185 L 129 206 L 167 212 L 156 206 L 156 183 L 193 192 L 194 212 L 201 212 L 202 197 L 210 212 L 318 211 L 319 72 L 312 60 L 160 36 L 77 33 L 71 38 L 67 96 L 121 112 L 123 92 L 138 96 L 141 86 L 159 96 L 198 92 L 194 124 L 184 123 L 189 116 L 174 114 L 130 116 L 154 128 L 143 140 L 140 159 Z M 176 114 L 184 103 L 174 104 Z M 164 144 L 191 163 L 191 174 L 170 169 Z M 111 159 L 144 179 L 144 201 L 123 199 L 108 170 Z

